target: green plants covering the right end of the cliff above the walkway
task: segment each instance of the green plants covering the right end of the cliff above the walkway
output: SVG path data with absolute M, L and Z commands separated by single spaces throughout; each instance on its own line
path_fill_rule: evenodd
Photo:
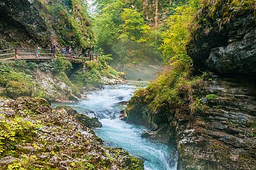
M 94 43 L 85 1 L 70 0 L 64 3 L 49 1 L 45 6 L 54 16 L 52 27 L 59 35 L 58 41 L 62 45 L 71 45 L 81 49 Z

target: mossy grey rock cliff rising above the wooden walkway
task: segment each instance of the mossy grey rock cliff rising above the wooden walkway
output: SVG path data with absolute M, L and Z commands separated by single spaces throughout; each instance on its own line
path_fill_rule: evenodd
M 48 48 L 71 45 L 76 50 L 93 43 L 87 5 L 84 1 L 0 1 L 0 49 Z

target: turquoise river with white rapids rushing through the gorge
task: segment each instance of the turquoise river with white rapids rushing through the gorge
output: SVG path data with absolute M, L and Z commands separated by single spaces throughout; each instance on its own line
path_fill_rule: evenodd
M 105 145 L 122 147 L 131 155 L 143 159 L 146 170 L 176 169 L 176 150 L 173 147 L 141 138 L 145 127 L 127 124 L 118 118 L 119 111 L 124 110 L 125 106 L 117 103 L 131 99 L 137 88 L 131 83 L 108 85 L 103 90 L 87 94 L 87 99 L 68 105 L 82 113 L 99 116 L 103 127 L 94 129 L 97 136 L 104 140 Z

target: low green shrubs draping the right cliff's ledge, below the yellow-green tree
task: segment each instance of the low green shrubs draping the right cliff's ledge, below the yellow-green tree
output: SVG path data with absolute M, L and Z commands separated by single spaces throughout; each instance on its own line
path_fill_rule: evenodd
M 155 80 L 151 81 L 145 90 L 139 90 L 135 96 L 150 101 L 151 108 L 157 110 L 162 104 L 177 105 L 184 95 L 192 94 L 192 86 L 200 79 L 190 78 L 189 59 L 175 57 L 171 69 L 165 69 Z M 183 95 L 181 95 L 183 94 Z

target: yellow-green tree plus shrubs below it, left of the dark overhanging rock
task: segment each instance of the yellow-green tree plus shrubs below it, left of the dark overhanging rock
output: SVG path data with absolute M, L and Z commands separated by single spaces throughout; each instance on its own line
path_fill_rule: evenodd
M 193 7 L 185 5 L 176 8 L 175 13 L 167 20 L 169 28 L 163 33 L 164 40 L 160 50 L 169 66 L 146 89 L 135 93 L 134 98 L 147 101 L 152 110 L 160 109 L 161 106 L 179 107 L 188 99 L 192 112 L 204 109 L 201 100 L 194 96 L 193 88 L 201 85 L 202 77 L 190 75 L 192 60 L 185 49 L 190 39 L 189 28 L 196 12 L 194 6 L 195 4 Z

